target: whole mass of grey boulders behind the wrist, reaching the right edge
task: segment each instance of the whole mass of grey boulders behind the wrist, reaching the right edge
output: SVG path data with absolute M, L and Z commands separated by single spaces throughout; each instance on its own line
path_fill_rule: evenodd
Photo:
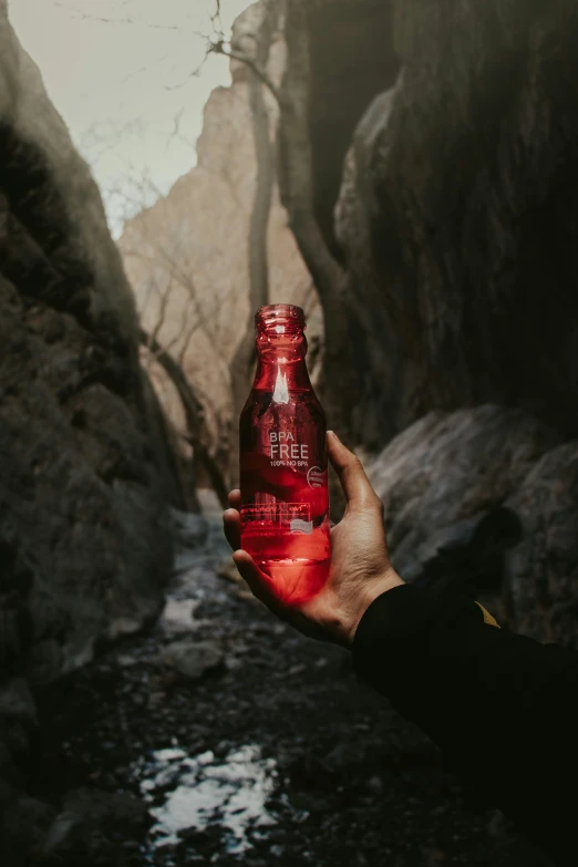
M 433 412 L 368 465 L 398 571 L 467 591 L 540 641 L 578 646 L 578 443 L 522 410 Z

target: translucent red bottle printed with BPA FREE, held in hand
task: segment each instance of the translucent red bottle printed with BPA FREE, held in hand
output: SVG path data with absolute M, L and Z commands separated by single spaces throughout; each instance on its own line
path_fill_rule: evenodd
M 258 364 L 239 423 L 241 547 L 288 605 L 329 575 L 326 419 L 307 372 L 303 311 L 262 307 Z

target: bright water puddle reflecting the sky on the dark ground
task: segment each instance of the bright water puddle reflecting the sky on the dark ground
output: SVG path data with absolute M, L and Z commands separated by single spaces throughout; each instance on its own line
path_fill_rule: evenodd
M 135 768 L 135 777 L 155 823 L 152 851 L 218 828 L 220 847 L 242 855 L 251 848 L 251 837 L 277 822 L 267 808 L 278 781 L 276 763 L 255 745 L 221 758 L 211 751 L 190 757 L 178 747 L 158 750 Z

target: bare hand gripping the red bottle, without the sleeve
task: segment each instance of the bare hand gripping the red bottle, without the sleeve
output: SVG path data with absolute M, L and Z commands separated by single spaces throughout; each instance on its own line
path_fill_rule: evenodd
M 345 647 L 353 642 L 363 613 L 378 596 L 403 584 L 393 569 L 383 527 L 383 505 L 373 491 L 359 458 L 330 431 L 329 460 L 347 499 L 342 520 L 331 530 L 331 567 L 323 589 L 298 607 L 277 599 L 270 578 L 240 545 L 240 492 L 231 491 L 231 508 L 223 515 L 233 559 L 251 592 L 282 620 L 307 636 Z

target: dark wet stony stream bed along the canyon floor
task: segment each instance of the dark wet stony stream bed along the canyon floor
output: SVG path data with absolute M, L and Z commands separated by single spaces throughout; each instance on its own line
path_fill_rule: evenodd
M 42 700 L 32 786 L 58 812 L 42 863 L 541 867 L 348 653 L 218 576 L 216 509 L 208 525 L 161 622 Z

